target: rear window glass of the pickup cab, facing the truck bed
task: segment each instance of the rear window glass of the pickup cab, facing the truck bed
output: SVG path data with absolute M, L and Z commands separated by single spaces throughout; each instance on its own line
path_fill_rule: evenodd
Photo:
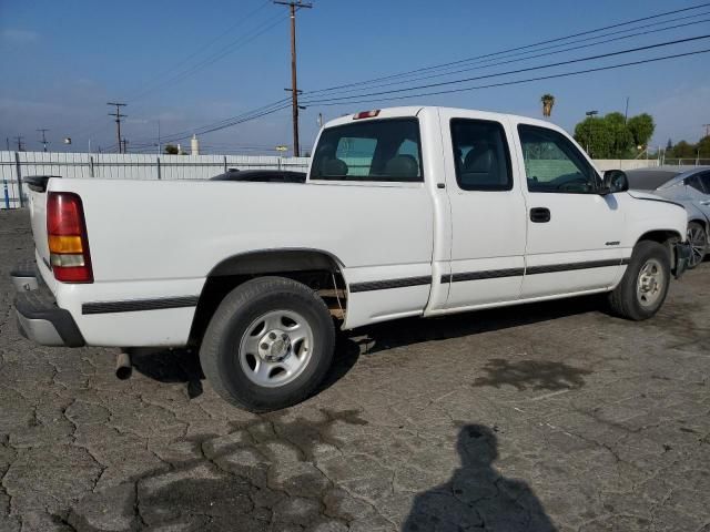
M 419 121 L 383 119 L 323 131 L 311 180 L 420 183 Z

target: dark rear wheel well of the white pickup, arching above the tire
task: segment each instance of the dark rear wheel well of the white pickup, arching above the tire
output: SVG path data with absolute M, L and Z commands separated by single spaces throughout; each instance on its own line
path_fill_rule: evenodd
M 202 341 L 210 319 L 222 299 L 250 279 L 287 277 L 313 288 L 335 319 L 345 319 L 347 289 L 338 260 L 320 250 L 281 249 L 234 255 L 217 264 L 202 288 L 190 330 L 190 344 Z

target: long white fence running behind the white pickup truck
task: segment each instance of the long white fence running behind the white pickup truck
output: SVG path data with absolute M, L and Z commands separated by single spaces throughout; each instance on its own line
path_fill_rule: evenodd
M 595 161 L 601 171 L 632 170 L 657 166 L 657 160 Z M 305 172 L 307 157 L 276 157 L 253 155 L 144 155 L 97 153 L 43 153 L 0 151 L 0 209 L 17 208 L 26 204 L 18 184 L 28 175 L 61 175 L 77 178 L 104 180 L 206 180 L 239 170 L 293 170 Z

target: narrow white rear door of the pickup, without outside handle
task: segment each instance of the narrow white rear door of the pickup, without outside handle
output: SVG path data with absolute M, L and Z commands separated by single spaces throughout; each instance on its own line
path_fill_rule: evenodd
M 445 308 L 513 301 L 520 297 L 526 232 L 513 132 L 496 114 L 456 113 L 440 111 L 452 213 Z

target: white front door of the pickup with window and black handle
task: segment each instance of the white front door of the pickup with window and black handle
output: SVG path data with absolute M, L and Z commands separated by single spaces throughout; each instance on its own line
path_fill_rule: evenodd
M 613 194 L 561 131 L 517 125 L 527 217 L 523 297 L 612 286 L 621 275 L 623 213 Z

